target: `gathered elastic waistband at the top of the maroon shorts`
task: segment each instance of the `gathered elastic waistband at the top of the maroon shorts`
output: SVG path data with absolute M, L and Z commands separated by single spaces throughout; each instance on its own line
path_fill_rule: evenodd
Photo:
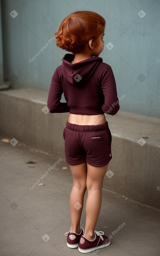
M 108 128 L 108 122 L 101 125 L 75 125 L 74 123 L 66 123 L 66 127 L 73 131 L 101 131 Z

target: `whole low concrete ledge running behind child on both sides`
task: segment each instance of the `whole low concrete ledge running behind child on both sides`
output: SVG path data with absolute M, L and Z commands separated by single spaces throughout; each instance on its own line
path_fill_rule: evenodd
M 1 91 L 0 132 L 64 159 L 63 129 L 68 113 L 45 114 L 42 108 L 47 96 L 48 92 L 33 89 Z M 107 171 L 114 175 L 105 176 L 104 188 L 160 208 L 160 119 L 119 111 L 106 120 L 113 155 Z

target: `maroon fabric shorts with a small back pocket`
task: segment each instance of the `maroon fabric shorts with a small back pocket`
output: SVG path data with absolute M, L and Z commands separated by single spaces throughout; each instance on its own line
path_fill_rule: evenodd
M 66 163 L 104 166 L 112 159 L 112 135 L 108 122 L 102 125 L 75 125 L 66 123 L 63 131 Z

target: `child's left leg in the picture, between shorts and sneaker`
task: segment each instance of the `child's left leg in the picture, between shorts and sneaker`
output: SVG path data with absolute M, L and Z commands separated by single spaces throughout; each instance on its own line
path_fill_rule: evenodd
M 70 193 L 71 232 L 80 233 L 80 220 L 86 191 L 86 162 L 79 165 L 69 165 L 73 175 L 73 188 Z M 82 205 L 82 206 L 81 206 Z

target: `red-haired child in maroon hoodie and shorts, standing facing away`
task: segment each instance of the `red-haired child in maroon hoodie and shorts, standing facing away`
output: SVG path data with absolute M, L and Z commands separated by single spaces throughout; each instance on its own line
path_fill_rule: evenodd
M 110 244 L 104 232 L 95 231 L 103 179 L 112 159 L 112 136 L 104 113 L 115 115 L 120 108 L 112 68 L 98 57 L 104 48 L 104 29 L 104 18 L 94 12 L 78 11 L 64 18 L 55 33 L 56 45 L 73 54 L 65 54 L 56 68 L 47 101 L 49 112 L 69 112 L 63 137 L 73 188 L 71 227 L 65 235 L 67 246 L 78 247 L 81 253 Z M 66 103 L 60 102 L 62 93 Z M 83 229 L 80 220 L 86 189 Z

